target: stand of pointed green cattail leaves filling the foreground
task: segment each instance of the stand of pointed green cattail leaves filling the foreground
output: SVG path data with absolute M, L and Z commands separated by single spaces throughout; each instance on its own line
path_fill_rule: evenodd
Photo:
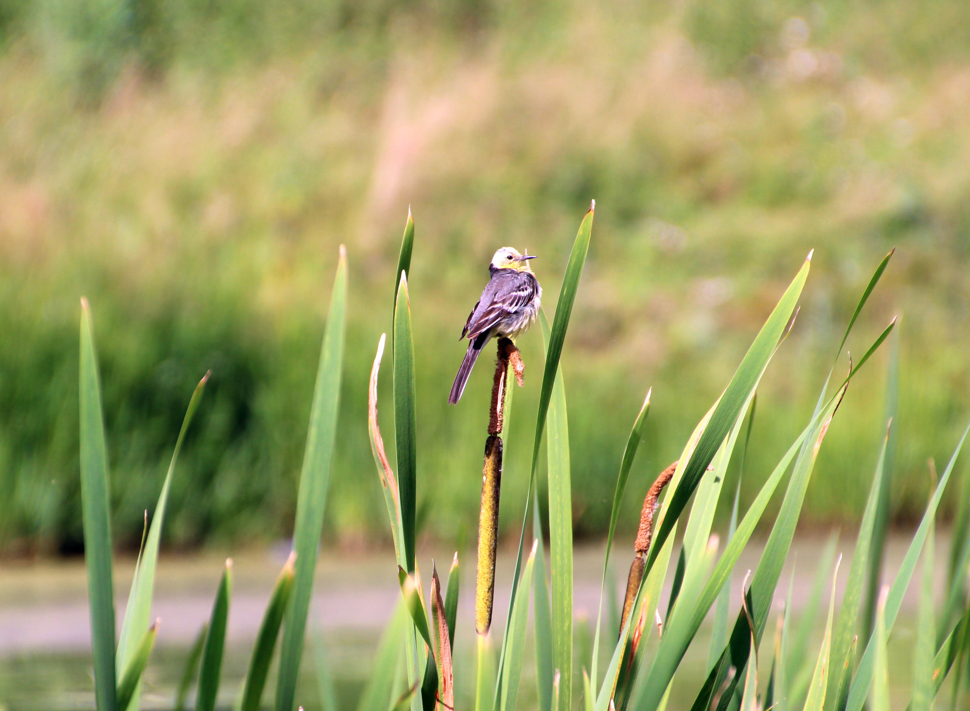
M 924 509 L 920 526 L 912 537 L 902 565 L 896 571 L 891 585 L 883 586 L 877 598 L 874 630 L 871 633 L 864 631 L 866 623 L 859 612 L 866 607 L 862 598 L 866 572 L 873 566 L 872 557 L 877 555 L 877 551 L 881 551 L 872 543 L 876 537 L 879 501 L 884 491 L 889 434 L 884 438 L 875 476 L 869 488 L 862 527 L 853 552 L 852 569 L 837 618 L 836 580 L 841 556 L 832 566 L 834 538 L 822 558 L 818 577 L 824 581 L 831 570 L 832 583 L 818 653 L 810 648 L 812 642 L 809 640 L 808 631 L 817 629 L 819 625 L 817 612 L 824 582 L 816 586 L 813 599 L 807 605 L 797 629 L 793 628 L 791 621 L 790 588 L 785 609 L 775 610 L 778 631 L 774 649 L 765 651 L 762 646 L 762 636 L 772 612 L 782 566 L 789 556 L 808 482 L 816 468 L 824 440 L 829 431 L 836 431 L 845 420 L 842 405 L 849 385 L 889 338 L 895 327 L 896 322 L 893 319 L 871 341 L 863 355 L 850 363 L 848 374 L 844 378 L 836 376 L 832 386 L 831 378 L 842 360 L 846 340 L 857 324 L 857 316 L 876 293 L 876 286 L 889 263 L 891 252 L 879 264 L 862 291 L 828 376 L 824 378 L 814 412 L 801 434 L 793 438 L 788 451 L 760 486 L 758 495 L 746 507 L 740 521 L 737 520 L 738 509 L 735 504 L 727 543 L 722 549 L 719 535 L 714 533 L 714 514 L 738 437 L 743 429 L 751 428 L 756 390 L 770 362 L 784 349 L 785 341 L 792 332 L 792 316 L 809 275 L 811 254 L 805 260 L 769 313 L 727 383 L 727 388 L 688 437 L 672 478 L 669 479 L 663 501 L 658 503 L 655 495 L 648 495 L 644 501 L 645 506 L 657 505 L 656 518 L 652 524 L 654 537 L 649 549 L 638 550 L 638 556 L 634 559 L 642 560 L 639 555 L 648 554 L 644 565 L 639 568 L 642 576 L 639 577 L 638 584 L 628 590 L 628 595 L 632 596 L 631 614 L 625 618 L 619 629 L 616 624 L 608 623 L 604 630 L 600 627 L 599 619 L 596 624 L 592 650 L 599 650 L 600 637 L 604 641 L 608 640 L 603 650 L 608 657 L 603 677 L 600 679 L 597 672 L 597 663 L 600 660 L 592 658 L 585 645 L 582 650 L 578 650 L 578 655 L 575 654 L 573 550 L 569 539 L 572 522 L 568 516 L 557 515 L 557 507 L 570 501 L 572 494 L 566 388 L 560 357 L 563 355 L 562 345 L 571 320 L 573 298 L 591 243 L 592 223 L 591 209 L 573 243 L 552 327 L 548 326 L 544 317 L 541 319 L 548 344 L 541 388 L 543 397 L 540 398 L 535 417 L 533 469 L 531 480 L 524 492 L 526 520 L 516 553 L 508 616 L 501 632 L 497 626 L 493 631 L 479 632 L 476 662 L 466 658 L 463 663 L 456 663 L 452 656 L 452 640 L 456 631 L 463 627 L 470 630 L 472 627 L 472 620 L 456 618 L 457 555 L 452 574 L 448 576 L 448 588 L 443 591 L 443 595 L 434 566 L 427 598 L 421 582 L 420 568 L 423 561 L 416 550 L 415 539 L 417 503 L 413 498 L 405 499 L 402 494 L 405 477 L 412 477 L 409 484 L 411 486 L 417 483 L 416 478 L 413 478 L 413 471 L 405 473 L 399 470 L 395 473 L 390 466 L 378 423 L 377 378 L 386 336 L 381 335 L 378 340 L 369 390 L 368 427 L 376 478 L 387 494 L 385 503 L 397 553 L 402 597 L 398 611 L 392 617 L 381 640 L 372 668 L 371 682 L 360 698 L 361 711 L 438 711 L 454 709 L 460 705 L 465 707 L 467 702 L 463 700 L 460 704 L 455 700 L 456 680 L 470 679 L 473 673 L 476 674 L 476 711 L 513 711 L 518 703 L 522 670 L 527 663 L 530 647 L 533 655 L 529 661 L 534 663 L 536 669 L 534 680 L 540 711 L 572 711 L 577 706 L 581 706 L 584 711 L 665 711 L 685 654 L 697 643 L 697 632 L 715 603 L 721 607 L 720 601 L 725 597 L 723 591 L 732 579 L 734 567 L 759 526 L 768 501 L 782 488 L 782 480 L 789 471 L 791 475 L 784 487 L 785 494 L 779 514 L 773 523 L 764 524 L 770 529 L 770 533 L 754 574 L 749 572 L 744 577 L 740 609 L 729 632 L 727 614 L 722 614 L 721 611 L 716 613 L 715 624 L 723 626 L 724 633 L 712 635 L 707 678 L 698 689 L 692 690 L 695 694 L 695 700 L 690 707 L 692 711 L 757 711 L 759 708 L 861 711 L 867 698 L 875 711 L 889 711 L 888 639 L 895 626 L 903 595 L 910 586 L 920 559 L 923 561 L 919 612 L 921 628 L 918 630 L 918 641 L 913 655 L 913 684 L 908 692 L 910 708 L 914 711 L 931 708 L 945 684 L 949 688 L 953 707 L 963 707 L 962 704 L 968 700 L 967 695 L 970 693 L 962 683 L 963 672 L 970 666 L 970 655 L 967 654 L 970 647 L 970 599 L 965 591 L 967 562 L 961 552 L 968 544 L 970 527 L 960 528 L 962 533 L 954 536 L 952 541 L 951 560 L 960 562 L 950 569 L 949 578 L 945 582 L 944 598 L 947 600 L 948 609 L 952 599 L 956 602 L 954 609 L 950 610 L 953 614 L 945 613 L 940 616 L 939 623 L 936 622 L 933 595 L 933 537 L 939 504 L 950 484 L 964 441 L 970 434 L 970 425 L 957 441 L 953 455 L 938 482 L 933 469 L 933 495 Z M 405 244 L 410 239 L 412 233 L 405 230 Z M 305 467 L 298 494 L 294 536 L 296 556 L 291 556 L 284 566 L 275 591 L 269 599 L 263 625 L 253 648 L 252 662 L 242 687 L 241 703 L 244 708 L 261 707 L 260 696 L 267 681 L 267 671 L 271 667 L 275 641 L 280 636 L 279 627 L 283 620 L 285 627 L 280 645 L 275 709 L 293 711 L 300 703 L 297 697 L 297 678 L 307 627 L 307 605 L 301 605 L 299 600 L 308 600 L 311 595 L 315 545 L 319 541 L 322 528 L 320 518 L 324 511 L 322 500 L 326 498 L 328 489 L 338 426 L 347 273 L 347 263 L 342 251 L 341 249 L 328 326 L 319 359 Z M 409 248 L 403 249 L 402 253 L 407 251 Z M 405 420 L 404 426 L 396 422 L 395 431 L 398 436 L 395 438 L 394 449 L 398 458 L 405 463 L 413 460 L 421 451 L 418 431 L 413 426 L 417 399 L 412 371 L 415 339 L 410 326 L 411 305 L 408 300 L 407 271 L 408 265 L 405 264 L 402 275 L 395 275 L 398 291 L 394 307 L 395 338 L 391 358 L 395 378 L 395 420 Z M 499 347 L 502 347 L 501 344 Z M 110 596 L 106 598 L 103 595 L 104 591 L 110 592 L 112 587 L 112 541 L 107 486 L 110 477 L 105 464 L 105 441 L 100 422 L 102 415 L 97 357 L 86 303 L 83 303 L 81 319 L 80 382 L 82 460 L 85 462 L 81 470 L 84 484 L 82 503 L 85 513 L 87 568 L 92 590 L 91 644 L 97 706 L 99 709 L 124 708 L 137 711 L 137 690 L 158 624 L 147 627 L 143 624 L 144 621 L 139 622 L 137 616 L 142 605 L 129 604 L 122 625 L 122 629 L 129 630 L 129 634 L 122 634 L 122 640 L 142 635 L 142 641 L 136 650 L 129 650 L 127 663 L 122 663 L 123 655 L 119 647 L 116 670 L 113 663 L 113 629 L 106 631 L 105 626 L 99 623 L 105 619 L 103 607 L 106 600 L 112 606 Z M 204 378 L 189 404 L 182 435 L 185 434 L 205 382 Z M 508 404 L 506 414 L 507 406 Z M 620 502 L 624 498 L 627 471 L 639 449 L 640 432 L 646 413 L 644 406 L 634 419 L 632 434 L 617 477 L 617 495 L 610 512 L 611 520 L 616 517 Z M 363 428 L 364 423 L 359 423 L 358 427 Z M 540 488 L 535 485 L 543 478 L 543 471 L 536 464 L 543 436 L 546 440 L 548 461 L 544 477 L 545 496 L 540 494 Z M 180 441 L 181 436 L 179 444 Z M 745 451 L 748 444 L 746 435 L 741 453 L 744 458 L 748 456 Z M 488 466 L 487 455 L 485 466 Z M 407 467 L 410 465 L 405 464 L 404 468 Z M 172 469 L 175 469 L 175 462 Z M 663 476 L 666 475 L 667 472 L 664 472 Z M 663 481 L 666 482 L 667 478 Z M 160 503 L 164 503 L 168 483 L 167 481 L 163 485 Z M 550 512 L 548 526 L 552 545 L 551 565 L 548 569 L 545 566 L 542 541 L 542 507 L 537 505 L 543 499 Z M 405 507 L 410 510 L 405 511 Z M 156 514 L 152 518 L 153 531 L 161 529 L 159 513 L 164 513 L 162 505 L 156 508 Z M 530 513 L 533 514 L 531 527 L 528 526 Z M 678 529 L 682 530 L 682 545 L 677 567 L 672 571 L 673 586 L 664 596 L 663 582 L 671 573 L 669 564 Z M 528 539 L 532 540 L 528 557 L 524 547 L 527 533 Z M 607 540 L 607 548 L 613 542 L 612 533 L 611 531 Z M 149 535 L 148 540 L 151 541 L 150 546 L 143 553 L 144 558 L 140 558 L 139 567 L 136 569 L 131 599 L 140 598 L 147 585 L 147 602 L 150 604 L 150 584 L 143 581 L 147 562 L 153 564 L 157 554 L 158 536 L 152 538 Z M 150 549 L 152 546 L 154 551 Z M 606 561 L 603 565 L 606 566 Z M 193 667 L 199 664 L 195 691 L 195 707 L 199 711 L 212 711 L 218 703 L 226 623 L 232 603 L 231 571 L 231 561 L 227 561 L 215 594 L 210 620 L 206 631 L 201 635 L 205 641 L 201 645 L 197 644 L 187 655 L 188 668 L 184 674 L 184 678 L 188 680 L 187 685 L 191 685 L 195 676 Z M 390 570 L 388 572 L 391 573 Z M 477 572 L 479 576 L 483 574 L 481 569 Z M 101 594 L 93 594 L 98 591 Z M 666 600 L 663 600 L 664 597 Z M 727 607 L 729 604 L 728 598 Z M 660 609 L 663 606 L 666 608 L 666 615 L 662 619 Z M 530 608 L 533 609 L 534 616 L 532 645 L 527 644 L 530 637 L 527 633 Z M 600 604 L 600 616 L 601 609 Z M 112 613 L 113 622 L 113 608 L 109 611 Z M 657 621 L 659 639 L 654 635 L 654 620 Z M 145 630 L 142 631 L 142 628 Z M 618 639 L 614 635 L 618 635 Z M 612 651 L 609 650 L 610 646 L 613 647 Z M 497 664 L 494 649 L 499 651 Z M 858 650 L 862 650 L 861 654 Z M 598 652 L 592 654 L 598 655 Z M 318 649 L 322 706 L 328 711 L 338 711 L 339 701 L 333 692 L 329 672 L 322 663 L 324 659 L 325 654 Z M 765 664 L 760 663 L 763 659 L 770 660 L 766 669 L 763 668 Z M 952 671 L 955 674 L 951 674 Z M 120 681 L 115 682 L 115 679 Z M 181 707 L 184 700 L 185 688 L 182 688 L 178 691 L 178 707 Z M 224 700 L 223 706 L 226 705 L 228 704 Z M 468 707 L 470 708 L 470 704 Z

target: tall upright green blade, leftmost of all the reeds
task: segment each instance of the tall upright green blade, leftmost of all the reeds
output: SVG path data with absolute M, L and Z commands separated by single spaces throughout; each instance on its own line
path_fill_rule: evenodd
M 99 711 L 115 711 L 114 587 L 108 449 L 91 311 L 81 299 L 81 515 L 87 604 L 91 615 L 94 696 Z

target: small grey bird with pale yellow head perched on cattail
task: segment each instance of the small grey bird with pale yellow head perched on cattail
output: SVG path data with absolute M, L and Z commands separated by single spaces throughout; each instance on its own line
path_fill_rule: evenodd
M 512 247 L 502 247 L 492 257 L 488 271 L 492 275 L 481 299 L 469 313 L 459 340 L 469 338 L 469 351 L 455 375 L 448 403 L 458 404 L 465 392 L 471 369 L 485 344 L 495 337 L 516 339 L 533 325 L 539 311 L 542 287 L 533 275 L 529 260 L 534 254 L 520 254 Z

